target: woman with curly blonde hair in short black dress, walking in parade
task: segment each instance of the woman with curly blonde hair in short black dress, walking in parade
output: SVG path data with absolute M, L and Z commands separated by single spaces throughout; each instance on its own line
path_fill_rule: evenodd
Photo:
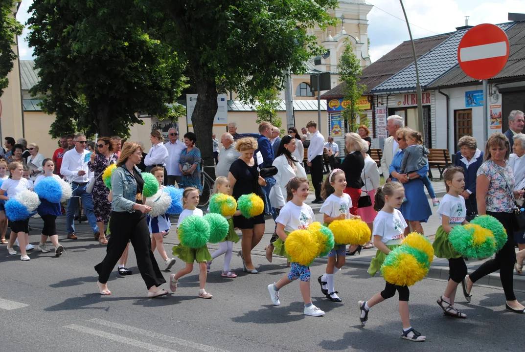
M 257 141 L 252 137 L 237 140 L 235 150 L 240 153 L 240 156 L 232 163 L 228 173 L 232 196 L 235 199 L 239 199 L 244 194 L 260 194 L 260 186 L 266 186 L 266 180 L 259 176 L 257 159 L 254 158 L 257 146 Z M 243 233 L 242 249 L 238 253 L 243 260 L 243 269 L 247 273 L 256 274 L 257 270 L 251 262 L 251 250 L 257 246 L 264 234 L 264 216 L 261 214 L 247 219 L 238 215 L 233 217 L 233 223 Z

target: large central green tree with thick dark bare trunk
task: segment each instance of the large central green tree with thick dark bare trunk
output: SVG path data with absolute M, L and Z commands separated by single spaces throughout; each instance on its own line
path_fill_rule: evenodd
M 337 0 L 136 0 L 155 7 L 171 33 L 171 45 L 187 61 L 198 100 L 192 116 L 206 165 L 213 164 L 212 124 L 217 93 L 235 91 L 242 100 L 282 88 L 283 71 L 306 71 L 304 61 L 322 50 L 309 29 L 337 19 Z M 165 18 L 171 19 L 166 21 Z M 202 128 L 201 128 L 202 127 Z M 250 132 L 250 131 L 246 131 Z

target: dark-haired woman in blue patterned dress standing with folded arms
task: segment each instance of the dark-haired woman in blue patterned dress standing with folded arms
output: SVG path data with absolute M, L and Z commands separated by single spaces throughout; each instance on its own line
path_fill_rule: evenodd
M 202 192 L 201 184 L 201 151 L 195 146 L 197 136 L 193 132 L 184 135 L 186 148 L 181 152 L 178 159 L 178 169 L 182 173 L 182 184 L 184 188 L 195 187 Z

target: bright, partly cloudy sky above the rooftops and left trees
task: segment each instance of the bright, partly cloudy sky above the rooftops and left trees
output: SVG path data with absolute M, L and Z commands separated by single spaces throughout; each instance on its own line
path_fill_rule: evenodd
M 32 2 L 22 0 L 16 17 L 23 24 L 27 22 L 27 10 Z M 374 62 L 410 37 L 397 0 L 366 2 L 374 5 L 368 15 L 369 55 Z M 465 25 L 465 16 L 470 16 L 468 24 L 475 26 L 508 22 L 509 12 L 525 13 L 525 0 L 404 0 L 403 3 L 414 39 L 455 31 L 456 27 Z M 19 54 L 23 60 L 31 60 L 33 50 L 27 46 L 26 36 L 27 29 L 18 38 Z

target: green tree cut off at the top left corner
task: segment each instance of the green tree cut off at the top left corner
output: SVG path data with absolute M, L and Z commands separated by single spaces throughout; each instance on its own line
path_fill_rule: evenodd
M 13 51 L 15 38 L 22 34 L 24 28 L 13 13 L 16 3 L 14 0 L 0 0 L 0 97 L 9 84 L 7 74 L 13 69 L 13 60 L 17 58 Z

